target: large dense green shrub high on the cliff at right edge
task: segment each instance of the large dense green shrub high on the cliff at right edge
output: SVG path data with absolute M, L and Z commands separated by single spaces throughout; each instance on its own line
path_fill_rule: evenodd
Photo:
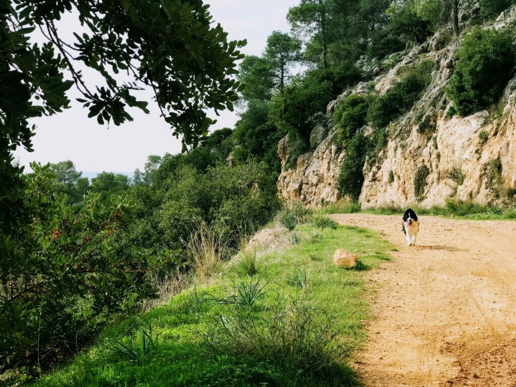
M 514 55 L 508 31 L 475 27 L 457 51 L 459 62 L 445 88 L 461 116 L 499 100 L 512 77 Z

